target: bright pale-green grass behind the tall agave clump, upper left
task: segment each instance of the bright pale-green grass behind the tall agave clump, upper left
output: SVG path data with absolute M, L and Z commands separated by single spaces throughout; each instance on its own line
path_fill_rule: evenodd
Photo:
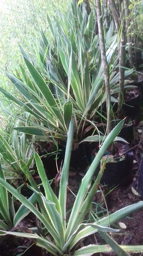
M 9 79 L 5 75 L 7 69 L 13 73 L 15 69 L 19 71 L 21 63 L 21 54 L 19 45 L 29 54 L 35 54 L 37 42 L 40 38 L 42 29 L 48 35 L 47 13 L 50 15 L 63 12 L 68 7 L 70 0 L 0 0 L 0 83 L 1 86 L 16 95 Z M 49 38 L 50 39 L 50 38 Z M 4 107 L 13 115 L 21 113 L 17 106 L 8 101 L 0 94 L 0 101 Z M 0 106 L 0 132 L 6 132 L 14 127 L 14 120 L 8 117 Z M 11 133 L 11 131 L 8 131 Z

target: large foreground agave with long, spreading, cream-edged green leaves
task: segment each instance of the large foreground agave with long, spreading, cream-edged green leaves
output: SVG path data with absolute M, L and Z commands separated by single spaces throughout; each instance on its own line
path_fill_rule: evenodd
M 34 182 L 30 171 L 28 170 L 24 161 L 20 161 L 21 169 L 27 177 L 30 185 L 28 187 L 34 191 L 34 195 L 37 198 L 39 207 L 35 207 L 33 202 L 23 197 L 15 188 L 8 184 L 3 178 L 0 178 L 0 184 L 3 189 L 8 190 L 15 198 L 17 198 L 22 205 L 31 210 L 36 217 L 40 220 L 41 225 L 37 228 L 30 228 L 27 232 L 19 232 L 19 228 L 16 227 L 13 231 L 0 231 L 1 236 L 5 234 L 13 234 L 16 237 L 25 237 L 32 239 L 34 243 L 40 247 L 45 248 L 52 255 L 92 255 L 96 252 L 108 252 L 114 250 L 115 253 L 122 253 L 122 255 L 129 255 L 126 251 L 139 252 L 143 246 L 120 246 L 106 233 L 118 232 L 119 229 L 113 229 L 108 227 L 113 222 L 124 218 L 134 210 L 143 207 L 143 203 L 139 202 L 134 205 L 127 206 L 117 212 L 104 217 L 103 219 L 96 220 L 94 223 L 83 223 L 83 219 L 87 214 L 87 210 L 90 207 L 93 195 L 98 189 L 100 178 L 102 176 L 104 165 L 100 171 L 97 172 L 96 168 L 109 144 L 119 133 L 123 121 L 121 121 L 115 129 L 107 136 L 103 145 L 101 146 L 96 158 L 91 164 L 87 174 L 82 179 L 81 186 L 78 190 L 69 220 L 66 216 L 66 198 L 68 189 L 68 176 L 69 176 L 69 164 L 70 155 L 73 144 L 74 122 L 73 119 L 70 122 L 69 131 L 67 135 L 66 154 L 61 170 L 60 190 L 59 197 L 56 197 L 51 189 L 48 179 L 42 165 L 42 162 L 37 153 L 35 153 L 35 161 L 37 169 L 44 187 L 44 194 L 40 191 L 39 187 Z M 92 184 L 93 175 L 96 175 L 96 180 Z M 90 190 L 89 190 L 90 188 Z M 76 248 L 78 242 L 84 237 L 90 234 L 98 232 L 103 236 L 105 241 L 109 245 L 89 245 L 83 246 L 79 249 Z

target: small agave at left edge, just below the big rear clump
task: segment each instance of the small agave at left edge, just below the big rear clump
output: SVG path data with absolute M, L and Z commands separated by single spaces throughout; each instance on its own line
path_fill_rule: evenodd
M 30 115 L 26 118 L 26 126 L 28 126 Z M 0 134 L 0 156 L 4 165 L 2 169 L 16 178 L 22 178 L 23 172 L 20 167 L 20 160 L 22 159 L 27 168 L 34 166 L 34 144 L 35 137 L 31 140 L 27 139 L 24 133 L 18 133 L 16 130 L 12 134 L 12 142 L 8 143 L 7 140 Z M 10 177 L 9 177 L 10 178 Z

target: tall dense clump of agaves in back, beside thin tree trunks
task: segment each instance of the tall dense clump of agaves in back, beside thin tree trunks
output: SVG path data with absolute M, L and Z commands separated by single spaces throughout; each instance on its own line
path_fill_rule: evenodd
M 77 8 L 74 2 L 70 11 L 59 16 L 60 19 L 47 16 L 52 41 L 41 32 L 38 61 L 20 47 L 26 68 L 20 66 L 22 75 L 7 72 L 22 101 L 2 88 L 0 91 L 32 116 L 31 126 L 16 130 L 45 139 L 66 140 L 73 109 L 74 139 L 80 141 L 85 123 L 95 127 L 96 111 L 105 101 L 96 18 L 93 11 L 87 14 L 84 3 Z M 119 90 L 119 73 L 117 35 L 112 23 L 105 34 L 105 45 L 113 94 Z M 126 70 L 125 76 L 131 73 Z

